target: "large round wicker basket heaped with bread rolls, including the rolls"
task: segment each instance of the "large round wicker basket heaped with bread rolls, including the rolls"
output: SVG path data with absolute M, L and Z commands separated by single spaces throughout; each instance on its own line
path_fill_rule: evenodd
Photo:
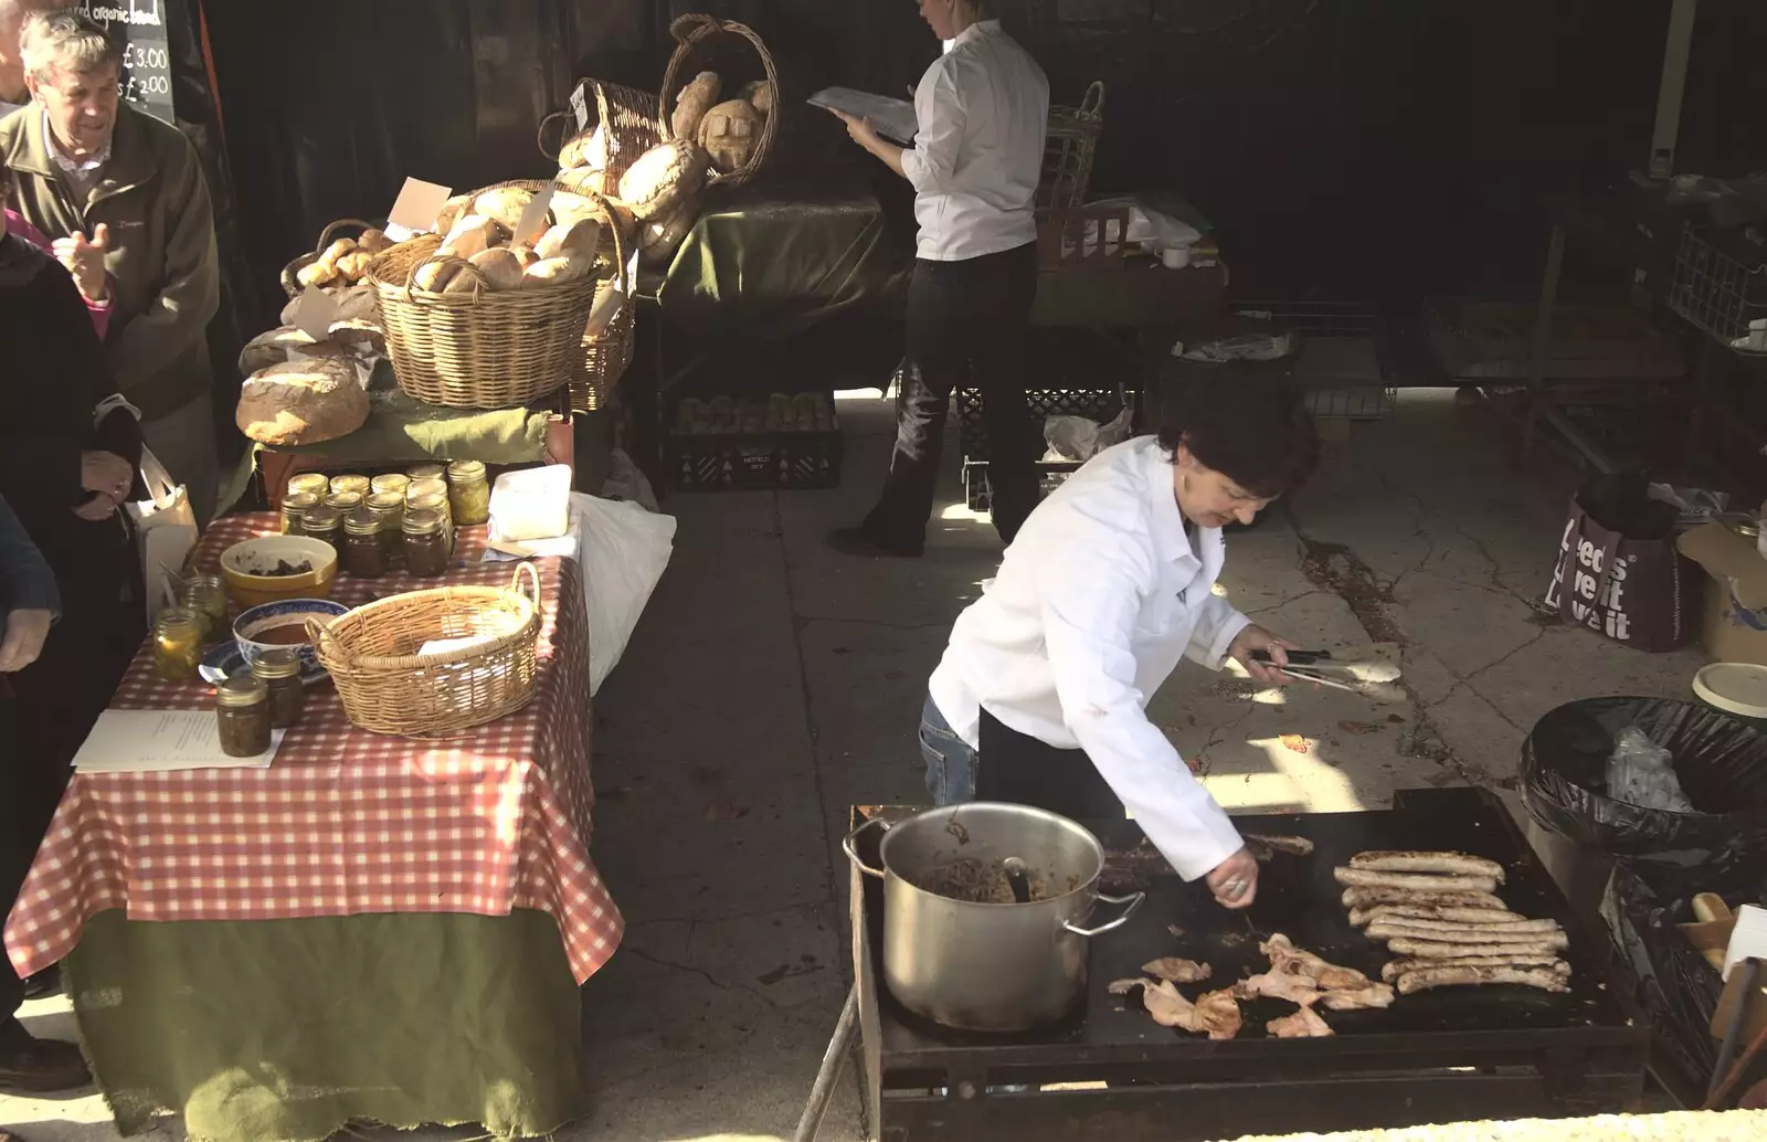
M 553 187 L 542 230 L 518 228 Z M 451 198 L 436 233 L 375 258 L 387 355 L 399 387 L 454 408 L 532 405 L 571 382 L 617 210 L 599 194 L 546 180 L 502 182 Z

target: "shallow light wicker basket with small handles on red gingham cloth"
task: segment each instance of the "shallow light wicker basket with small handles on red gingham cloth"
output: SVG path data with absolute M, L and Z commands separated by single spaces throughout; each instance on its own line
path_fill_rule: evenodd
M 527 590 L 523 590 L 523 587 Z M 504 587 L 438 587 L 357 606 L 307 636 L 343 711 L 375 734 L 438 737 L 514 712 L 539 679 L 541 580 L 534 564 Z M 419 654 L 438 638 L 486 638 Z

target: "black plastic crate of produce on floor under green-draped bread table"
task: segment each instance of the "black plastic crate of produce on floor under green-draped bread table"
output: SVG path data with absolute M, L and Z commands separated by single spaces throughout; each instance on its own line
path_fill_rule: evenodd
M 677 491 L 781 491 L 799 488 L 834 488 L 841 483 L 841 424 L 834 400 L 827 392 L 797 394 L 818 398 L 827 410 L 827 428 L 772 430 L 767 428 L 765 408 L 772 398 L 714 398 L 700 401 L 710 407 L 730 401 L 737 408 L 737 423 L 753 424 L 747 415 L 755 407 L 763 410 L 760 430 L 730 428 L 730 419 L 719 421 L 723 431 L 689 431 L 694 421 L 687 400 L 677 401 L 671 423 L 663 440 L 663 461 Z M 786 398 L 788 401 L 793 398 Z M 684 414 L 687 408 L 687 414 Z

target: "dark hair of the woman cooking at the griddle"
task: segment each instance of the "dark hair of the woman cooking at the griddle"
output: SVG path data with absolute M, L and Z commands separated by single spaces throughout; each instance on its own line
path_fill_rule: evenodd
M 1237 362 L 1212 366 L 1168 392 L 1157 431 L 1168 454 L 1182 444 L 1260 499 L 1293 491 L 1320 460 L 1318 431 L 1299 385 Z

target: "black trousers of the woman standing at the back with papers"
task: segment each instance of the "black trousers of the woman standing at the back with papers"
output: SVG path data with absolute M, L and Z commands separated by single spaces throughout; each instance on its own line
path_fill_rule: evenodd
M 1037 506 L 1043 438 L 1025 405 L 1025 336 L 1037 299 L 1037 244 L 965 262 L 914 263 L 896 451 L 866 530 L 919 548 L 933 514 L 945 414 L 959 385 L 981 389 L 988 415 L 993 522 L 1007 543 Z

